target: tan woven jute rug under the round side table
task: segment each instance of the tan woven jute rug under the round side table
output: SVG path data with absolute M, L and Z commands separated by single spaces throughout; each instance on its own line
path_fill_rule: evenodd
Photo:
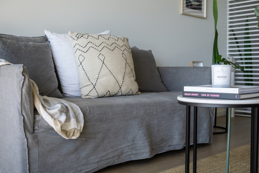
M 199 173 L 221 173 L 226 172 L 227 152 L 209 156 L 197 161 L 197 172 Z M 191 156 L 191 155 L 190 155 Z M 192 156 L 191 156 L 192 157 Z M 185 172 L 185 164 L 168 169 L 159 173 L 182 173 Z M 190 163 L 192 172 L 192 162 Z M 229 172 L 250 172 L 250 144 L 235 148 L 229 152 Z

